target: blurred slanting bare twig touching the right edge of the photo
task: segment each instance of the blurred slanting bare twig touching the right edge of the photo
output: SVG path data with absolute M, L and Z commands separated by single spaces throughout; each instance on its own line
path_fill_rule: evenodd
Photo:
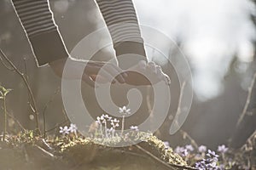
M 252 98 L 253 85 L 254 85 L 254 83 L 255 83 L 255 79 L 256 79 L 256 72 L 254 73 L 254 75 L 253 75 L 253 80 L 252 80 L 252 82 L 251 82 L 251 84 L 250 84 L 250 86 L 249 86 L 249 88 L 248 88 L 247 101 L 246 101 L 246 103 L 245 103 L 245 105 L 244 105 L 244 107 L 243 107 L 243 110 L 242 110 L 242 112 L 241 112 L 241 115 L 240 115 L 238 121 L 236 122 L 236 127 L 238 127 L 238 126 L 241 124 L 242 119 L 243 119 L 244 116 L 246 116 L 246 114 L 247 114 L 247 109 L 248 109 L 248 106 L 249 106 L 249 104 L 250 104 L 250 100 L 251 100 L 251 98 Z

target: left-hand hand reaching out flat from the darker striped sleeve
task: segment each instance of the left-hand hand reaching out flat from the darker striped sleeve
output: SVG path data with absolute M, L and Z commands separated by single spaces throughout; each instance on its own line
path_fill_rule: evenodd
M 82 80 L 89 84 L 91 87 L 95 87 L 96 77 L 99 78 L 99 82 L 120 82 L 125 83 L 125 77 L 127 77 L 126 73 L 122 73 L 122 70 L 112 63 L 103 62 L 103 61 L 88 61 L 88 60 L 75 60 L 71 59 L 68 62 L 71 62 L 69 65 L 70 72 L 64 76 L 62 75 L 64 65 L 67 59 L 59 59 L 54 62 L 49 63 L 50 67 L 55 71 L 55 74 L 58 77 L 67 78 L 67 79 L 79 79 L 79 71 L 83 70 Z M 84 65 L 85 68 L 84 68 Z M 103 67 L 104 66 L 104 67 Z M 99 75 L 99 71 L 101 71 L 101 75 Z M 114 75 L 118 75 L 114 77 Z M 113 78 L 114 77 L 114 78 Z M 112 81 L 113 80 L 113 81 Z

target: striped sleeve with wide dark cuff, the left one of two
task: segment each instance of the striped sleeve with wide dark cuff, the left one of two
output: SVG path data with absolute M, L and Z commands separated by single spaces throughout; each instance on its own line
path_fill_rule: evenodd
M 32 45 L 38 66 L 68 57 L 48 0 L 12 0 L 12 3 Z

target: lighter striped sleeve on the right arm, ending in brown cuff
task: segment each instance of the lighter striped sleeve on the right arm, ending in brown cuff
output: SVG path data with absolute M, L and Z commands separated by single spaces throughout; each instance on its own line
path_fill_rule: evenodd
M 139 54 L 146 60 L 143 38 L 132 1 L 96 0 L 96 3 L 108 26 L 117 57 L 121 54 Z M 137 60 L 134 61 L 133 65 L 136 65 Z

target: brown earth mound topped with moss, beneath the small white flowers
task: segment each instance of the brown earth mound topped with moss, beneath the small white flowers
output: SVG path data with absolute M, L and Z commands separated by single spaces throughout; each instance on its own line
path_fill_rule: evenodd
M 45 140 L 33 137 L 32 133 L 25 135 L 29 139 L 20 136 L 9 135 L 0 143 L 2 169 L 166 170 L 187 167 L 182 157 L 171 148 L 166 149 L 153 135 L 126 147 L 109 147 L 100 144 L 98 139 L 75 136 Z

